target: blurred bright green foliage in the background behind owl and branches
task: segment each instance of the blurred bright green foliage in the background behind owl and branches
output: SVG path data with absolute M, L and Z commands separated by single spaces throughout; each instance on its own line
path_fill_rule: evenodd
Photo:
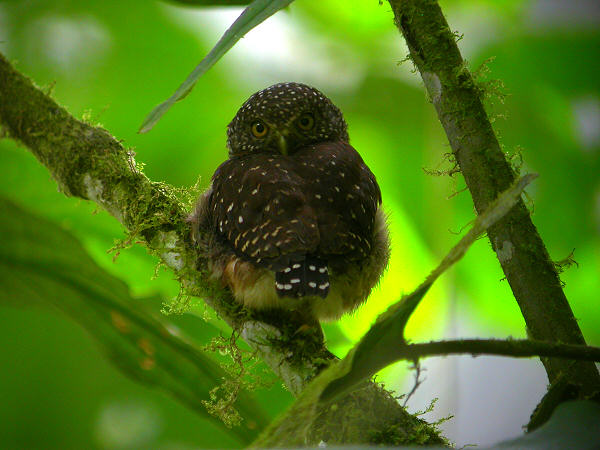
M 562 5 L 562 6 L 561 6 Z M 561 9 L 562 8 L 562 9 Z M 490 57 L 504 102 L 490 113 L 508 155 L 540 178 L 528 189 L 533 220 L 554 260 L 575 249 L 561 274 L 588 340 L 600 344 L 600 31 L 568 2 L 442 2 L 472 70 Z M 0 1 L 0 51 L 77 117 L 101 123 L 137 152 L 153 180 L 207 186 L 226 158 L 225 127 L 254 91 L 283 81 L 315 85 L 340 106 L 352 144 L 381 184 L 393 259 L 358 313 L 326 326 L 343 355 L 386 305 L 416 287 L 473 219 L 447 140 L 411 64 L 389 6 L 375 0 L 298 0 L 207 72 L 146 135 L 142 119 L 207 54 L 240 9 L 200 10 L 132 0 Z M 597 18 L 596 18 L 597 20 Z M 73 233 L 98 265 L 137 297 L 177 295 L 171 274 L 143 248 L 107 250 L 124 236 L 92 204 L 66 198 L 47 170 L 10 139 L 0 141 L 0 193 Z M 454 193 L 458 193 L 453 195 Z M 2 212 L 4 214 L 5 212 Z M 0 241 L 0 245 L 2 241 Z M 31 248 L 35 255 L 36 249 Z M 6 275 L 6 274 L 5 274 Z M 489 243 L 481 239 L 411 318 L 411 339 L 443 335 L 456 317 L 496 336 L 524 337 L 524 323 Z M 62 315 L 0 297 L 0 436 L 6 447 L 235 447 L 240 442 L 161 392 L 125 379 L 88 335 Z M 11 301 L 13 300 L 13 301 Z M 192 312 L 220 321 L 198 301 Z M 174 318 L 195 336 L 192 314 Z M 291 401 L 276 385 L 256 394 L 273 417 Z M 117 424 L 118 426 L 115 426 Z M 129 426 L 125 426 L 128 424 Z M 141 425 L 140 425 L 141 424 Z M 137 428 L 136 428 L 137 427 Z M 35 430 L 35 433 L 32 433 Z M 140 431 L 141 430 L 141 431 Z M 150 431 L 148 431 L 150 430 Z

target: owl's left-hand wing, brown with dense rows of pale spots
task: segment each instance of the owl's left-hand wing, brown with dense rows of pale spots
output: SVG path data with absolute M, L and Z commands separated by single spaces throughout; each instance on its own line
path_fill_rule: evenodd
M 318 219 L 304 184 L 289 159 L 231 158 L 213 176 L 213 227 L 240 256 L 282 270 L 319 245 Z

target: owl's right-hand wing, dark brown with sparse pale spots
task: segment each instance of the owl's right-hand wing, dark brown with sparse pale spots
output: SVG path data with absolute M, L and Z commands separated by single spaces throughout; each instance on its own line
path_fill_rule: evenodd
M 360 260 L 371 252 L 381 191 L 358 152 L 345 142 L 306 147 L 294 157 L 306 180 L 306 195 L 318 217 L 317 255 Z

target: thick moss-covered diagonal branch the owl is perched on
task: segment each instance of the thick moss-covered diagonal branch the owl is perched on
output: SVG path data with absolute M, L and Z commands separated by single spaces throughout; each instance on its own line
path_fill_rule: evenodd
M 228 290 L 208 277 L 206 255 L 192 241 L 188 213 L 173 190 L 150 181 L 136 166 L 132 152 L 106 130 L 75 119 L 1 54 L 0 126 L 49 169 L 62 192 L 98 203 L 140 236 L 148 250 L 173 270 L 185 292 L 214 308 L 294 395 L 335 358 L 325 348 L 320 328 L 292 338 L 299 327 L 292 314 L 259 315 L 235 302 Z M 386 431 L 390 429 L 407 437 L 406 443 L 444 442 L 434 427 L 408 414 L 374 383 L 346 403 L 352 405 L 355 421 L 340 430 L 338 416 L 323 418 L 311 432 L 316 443 L 322 435 L 332 443 L 354 444 L 368 443 L 374 434 L 397 438 Z M 374 403 L 386 413 L 374 415 Z M 361 417 L 365 419 L 357 420 Z

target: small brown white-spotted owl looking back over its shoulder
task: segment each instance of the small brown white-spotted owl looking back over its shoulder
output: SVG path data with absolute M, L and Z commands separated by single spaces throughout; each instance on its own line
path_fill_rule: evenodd
M 191 216 L 211 276 L 251 309 L 333 320 L 363 303 L 388 229 L 341 111 L 310 86 L 275 84 L 242 105 L 227 147 Z

